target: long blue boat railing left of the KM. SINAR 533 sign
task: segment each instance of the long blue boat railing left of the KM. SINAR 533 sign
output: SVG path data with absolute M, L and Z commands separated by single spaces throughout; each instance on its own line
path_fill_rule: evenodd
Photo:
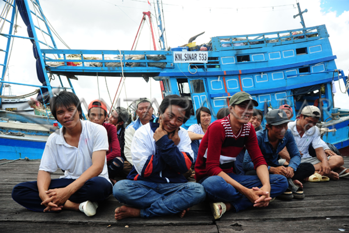
M 128 69 L 129 67 L 159 70 L 171 68 L 171 51 L 139 51 L 139 50 L 74 50 L 74 49 L 42 49 L 46 66 L 50 68 L 62 66 L 73 70 L 74 66 L 84 69 L 110 71 Z M 57 56 L 61 58 L 57 59 Z M 53 58 L 55 57 L 55 58 Z M 77 67 L 78 68 L 78 67 Z

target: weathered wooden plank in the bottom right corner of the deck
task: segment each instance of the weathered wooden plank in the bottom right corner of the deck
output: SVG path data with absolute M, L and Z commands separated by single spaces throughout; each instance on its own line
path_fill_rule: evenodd
M 339 232 L 349 230 L 349 218 L 297 221 L 216 221 L 220 233 L 228 232 Z

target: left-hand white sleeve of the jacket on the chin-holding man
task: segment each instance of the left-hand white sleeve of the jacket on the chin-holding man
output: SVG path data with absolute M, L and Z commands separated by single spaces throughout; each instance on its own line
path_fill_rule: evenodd
M 149 145 L 153 143 L 151 140 L 153 137 L 150 138 L 150 135 L 147 132 L 148 128 L 150 128 L 149 124 L 143 125 L 141 128 L 136 130 L 131 143 L 133 166 L 139 175 L 142 174 L 147 159 L 152 155 L 152 150 Z

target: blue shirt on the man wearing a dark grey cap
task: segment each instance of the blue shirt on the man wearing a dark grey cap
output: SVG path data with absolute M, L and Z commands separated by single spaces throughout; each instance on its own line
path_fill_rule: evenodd
M 298 147 L 295 141 L 295 138 L 293 137 L 293 134 L 288 129 L 285 133 L 284 138 L 279 142 L 277 145 L 277 150 L 273 150 L 273 146 L 269 143 L 268 139 L 268 130 L 260 130 L 257 133 L 257 139 L 258 139 L 258 145 L 261 149 L 261 152 L 264 156 L 265 161 L 268 164 L 268 169 L 270 167 L 277 167 L 279 166 L 279 152 L 282 151 L 282 149 L 286 146 L 288 153 L 290 154 L 291 160 L 289 167 L 293 168 L 294 171 L 297 170 L 299 164 L 300 164 L 300 153 L 298 151 Z M 250 155 L 246 151 L 244 162 L 243 162 L 243 168 L 246 171 L 253 170 L 253 162 L 251 160 Z

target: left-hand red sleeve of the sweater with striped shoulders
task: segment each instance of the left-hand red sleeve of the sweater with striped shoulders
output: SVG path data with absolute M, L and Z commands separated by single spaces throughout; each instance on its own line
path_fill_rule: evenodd
M 222 144 L 225 139 L 225 131 L 221 122 L 218 121 L 212 123 L 207 129 L 207 132 L 202 140 L 204 140 L 205 137 L 206 140 L 208 140 L 206 172 L 208 176 L 215 176 L 222 172 L 222 169 L 219 167 L 219 160 L 221 156 Z

